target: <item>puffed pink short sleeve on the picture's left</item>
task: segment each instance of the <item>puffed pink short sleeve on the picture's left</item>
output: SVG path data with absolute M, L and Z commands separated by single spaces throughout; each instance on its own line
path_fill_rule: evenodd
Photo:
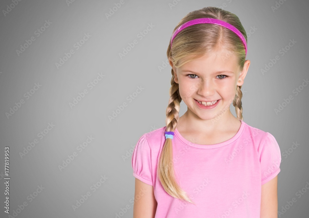
M 142 135 L 132 153 L 133 176 L 142 182 L 153 185 L 151 167 L 151 149 L 146 138 Z

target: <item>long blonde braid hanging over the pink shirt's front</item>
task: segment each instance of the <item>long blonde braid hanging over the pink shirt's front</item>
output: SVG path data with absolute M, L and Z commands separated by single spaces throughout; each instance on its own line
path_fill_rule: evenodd
M 171 79 L 170 99 L 166 109 L 166 131 L 168 132 L 174 131 L 176 129 L 181 102 L 179 85 L 174 81 L 175 75 L 173 69 L 171 72 L 173 76 Z M 187 193 L 182 190 L 176 182 L 173 167 L 173 147 L 171 138 L 165 139 L 165 143 L 159 159 L 157 173 L 164 190 L 169 195 L 193 203 L 191 199 L 188 198 Z

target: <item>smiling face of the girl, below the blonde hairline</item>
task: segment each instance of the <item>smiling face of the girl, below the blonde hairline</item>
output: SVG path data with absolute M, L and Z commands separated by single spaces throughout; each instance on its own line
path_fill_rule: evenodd
M 214 119 L 220 115 L 222 117 L 222 114 L 231 114 L 230 105 L 237 85 L 243 84 L 245 76 L 240 74 L 239 77 L 239 74 L 237 56 L 233 52 L 217 50 L 177 68 L 175 82 L 179 84 L 180 97 L 188 106 L 188 111 L 201 119 Z M 198 101 L 205 101 L 207 106 Z

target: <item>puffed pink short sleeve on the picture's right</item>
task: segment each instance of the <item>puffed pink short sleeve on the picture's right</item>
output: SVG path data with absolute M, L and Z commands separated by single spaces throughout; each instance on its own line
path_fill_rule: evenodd
M 262 185 L 275 178 L 280 172 L 281 152 L 276 139 L 267 132 L 265 142 L 260 149 Z

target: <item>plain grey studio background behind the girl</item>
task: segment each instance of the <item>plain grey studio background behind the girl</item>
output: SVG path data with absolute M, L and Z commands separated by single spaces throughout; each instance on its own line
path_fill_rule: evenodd
M 4 14 L 12 1 L 1 1 L 0 216 L 8 217 L 3 179 L 4 147 L 8 146 L 11 216 L 18 205 L 27 202 L 17 217 L 116 217 L 127 205 L 129 209 L 120 215 L 132 217 L 130 153 L 142 134 L 165 126 L 171 68 L 163 62 L 172 31 L 188 12 L 221 6 L 236 14 L 248 33 L 251 65 L 242 87 L 244 121 L 273 134 L 280 146 L 278 210 L 284 211 L 282 207 L 293 197 L 297 200 L 279 217 L 309 217 L 309 190 L 305 188 L 309 182 L 309 86 L 297 96 L 293 93 L 309 77 L 308 1 L 124 0 L 107 19 L 106 13 L 119 2 L 75 0 L 68 5 L 65 0 L 23 0 Z M 276 4 L 280 7 L 273 10 Z M 45 20 L 51 24 L 37 37 L 35 31 Z M 138 38 L 148 24 L 152 29 Z M 74 44 L 87 33 L 90 38 L 76 50 Z M 35 41 L 18 56 L 16 50 L 32 36 Z M 138 43 L 120 58 L 119 53 L 135 39 Z M 290 39 L 296 43 L 281 56 L 281 48 Z M 57 69 L 55 63 L 70 49 L 74 54 Z M 280 60 L 263 75 L 261 68 L 277 55 Z M 87 84 L 98 73 L 104 77 L 90 89 Z M 40 88 L 26 99 L 24 94 L 35 83 Z M 129 102 L 127 97 L 138 86 L 144 89 Z M 84 89 L 88 93 L 71 108 L 69 103 Z M 293 100 L 276 114 L 274 109 L 290 95 Z M 7 118 L 6 113 L 22 99 L 24 104 Z M 127 106 L 110 121 L 108 116 L 123 103 Z M 180 116 L 186 109 L 182 103 Z M 235 115 L 232 105 L 231 111 Z M 40 139 L 37 134 L 49 123 L 55 126 Z M 93 141 L 79 152 L 78 146 L 88 136 Z M 21 157 L 20 152 L 35 139 L 38 143 Z M 296 149 L 293 142 L 299 144 Z M 285 151 L 289 155 L 283 155 Z M 78 155 L 60 171 L 58 166 L 74 152 Z M 126 153 L 129 157 L 123 159 Z M 106 181 L 99 182 L 104 175 Z M 93 192 L 95 183 L 101 186 Z M 43 191 L 29 197 L 40 185 Z M 298 198 L 302 189 L 306 193 Z M 74 211 L 72 205 L 87 191 L 91 195 Z

